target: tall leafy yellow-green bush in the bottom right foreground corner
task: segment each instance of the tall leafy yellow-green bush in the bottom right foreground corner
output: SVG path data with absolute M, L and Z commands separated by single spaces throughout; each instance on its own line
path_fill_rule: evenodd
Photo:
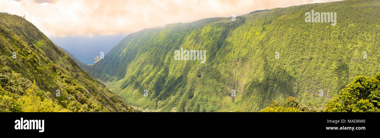
M 379 112 L 380 73 L 357 76 L 326 104 L 324 112 Z

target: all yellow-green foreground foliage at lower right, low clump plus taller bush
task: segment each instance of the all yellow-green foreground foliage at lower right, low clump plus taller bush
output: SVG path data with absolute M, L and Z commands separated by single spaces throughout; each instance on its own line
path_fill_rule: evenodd
M 379 112 L 379 90 L 380 73 L 372 78 L 357 76 L 338 95 L 332 97 L 323 112 Z M 322 112 L 322 109 L 313 105 L 301 105 L 297 99 L 289 97 L 281 104 L 273 101 L 261 112 Z

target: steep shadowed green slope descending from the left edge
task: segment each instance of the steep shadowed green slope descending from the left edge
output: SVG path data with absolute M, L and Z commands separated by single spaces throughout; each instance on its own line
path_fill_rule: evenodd
M 0 111 L 133 109 L 81 70 L 32 23 L 20 16 L 0 13 Z

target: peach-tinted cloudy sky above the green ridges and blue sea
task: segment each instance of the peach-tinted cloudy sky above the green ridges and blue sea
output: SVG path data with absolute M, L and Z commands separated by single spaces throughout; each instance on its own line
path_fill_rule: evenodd
M 0 0 L 0 11 L 25 14 L 48 37 L 91 37 L 332 1 L 337 0 Z

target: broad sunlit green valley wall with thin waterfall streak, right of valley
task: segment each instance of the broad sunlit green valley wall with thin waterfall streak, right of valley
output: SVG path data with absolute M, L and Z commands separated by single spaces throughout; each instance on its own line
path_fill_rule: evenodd
M 306 23 L 312 9 L 337 12 L 337 25 Z M 128 104 L 154 111 L 252 112 L 289 96 L 321 108 L 355 76 L 379 72 L 378 15 L 378 0 L 345 0 L 144 29 L 89 73 Z M 206 50 L 206 63 L 174 60 L 180 48 Z

